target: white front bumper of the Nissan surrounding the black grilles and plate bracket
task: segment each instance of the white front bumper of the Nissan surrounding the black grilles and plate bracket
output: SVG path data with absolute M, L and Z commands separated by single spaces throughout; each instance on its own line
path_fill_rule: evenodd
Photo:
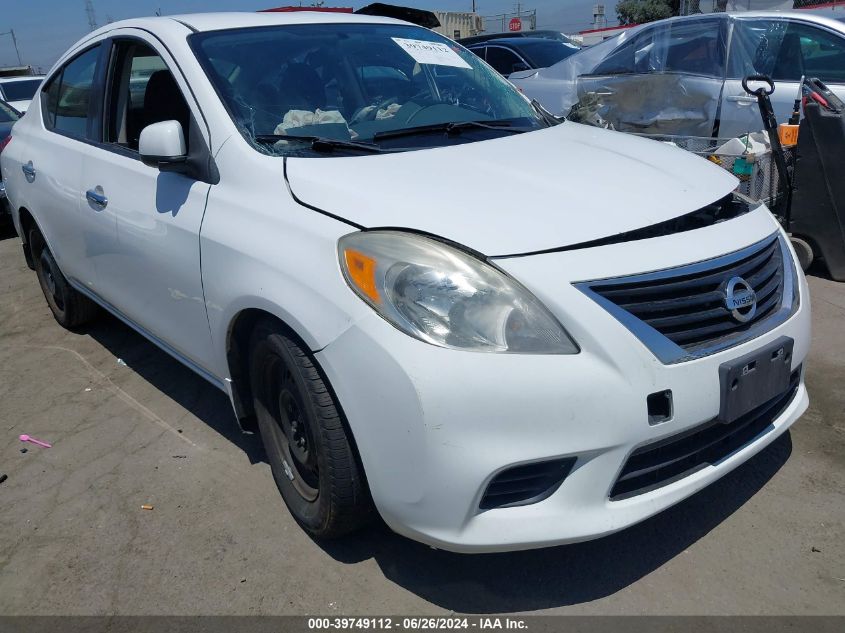
M 679 234 L 498 261 L 557 313 L 582 347 L 577 355 L 442 349 L 402 334 L 375 314 L 320 351 L 317 358 L 349 420 L 374 502 L 388 525 L 416 540 L 463 552 L 596 538 L 678 503 L 783 433 L 807 407 L 803 379 L 769 428 L 715 465 L 655 490 L 610 500 L 635 449 L 716 417 L 721 363 L 781 336 L 795 341 L 793 368 L 806 357 L 810 310 L 800 273 L 801 303 L 791 318 L 751 341 L 674 365 L 658 361 L 573 286 L 636 272 L 632 261 L 644 271 L 697 261 L 697 252 L 706 259 L 735 250 L 732 242 L 738 249 L 775 228 L 765 210 L 724 224 L 733 230 L 724 225 L 701 229 L 695 244 Z M 555 271 L 554 280 L 549 271 Z M 673 393 L 673 417 L 650 425 L 646 396 L 665 389 Z M 504 468 L 563 457 L 576 458 L 575 466 L 547 498 L 479 509 L 488 483 Z

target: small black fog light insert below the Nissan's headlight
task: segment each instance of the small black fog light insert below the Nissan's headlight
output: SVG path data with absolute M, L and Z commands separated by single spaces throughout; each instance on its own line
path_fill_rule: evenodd
M 481 497 L 481 510 L 537 503 L 550 496 L 575 465 L 574 457 L 523 464 L 493 477 Z

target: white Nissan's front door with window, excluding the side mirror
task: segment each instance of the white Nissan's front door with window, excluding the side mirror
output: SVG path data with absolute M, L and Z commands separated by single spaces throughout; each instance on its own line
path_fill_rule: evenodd
M 111 40 L 101 139 L 82 175 L 85 206 L 93 213 L 101 207 L 117 227 L 100 294 L 168 351 L 208 368 L 199 231 L 210 185 L 148 167 L 138 153 L 141 131 L 152 123 L 178 121 L 189 153 L 207 131 L 164 47 L 143 32 L 120 33 Z

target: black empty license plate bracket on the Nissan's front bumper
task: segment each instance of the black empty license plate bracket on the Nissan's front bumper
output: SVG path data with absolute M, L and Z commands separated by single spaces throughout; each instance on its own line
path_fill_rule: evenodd
M 795 341 L 781 336 L 765 347 L 719 365 L 719 421 L 730 424 L 789 388 Z

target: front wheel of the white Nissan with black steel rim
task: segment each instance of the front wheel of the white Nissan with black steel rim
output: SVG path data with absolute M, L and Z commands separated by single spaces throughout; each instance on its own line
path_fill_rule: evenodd
M 317 538 L 336 538 L 365 525 L 372 502 L 363 471 L 310 354 L 267 320 L 252 333 L 249 362 L 261 439 L 294 519 Z

